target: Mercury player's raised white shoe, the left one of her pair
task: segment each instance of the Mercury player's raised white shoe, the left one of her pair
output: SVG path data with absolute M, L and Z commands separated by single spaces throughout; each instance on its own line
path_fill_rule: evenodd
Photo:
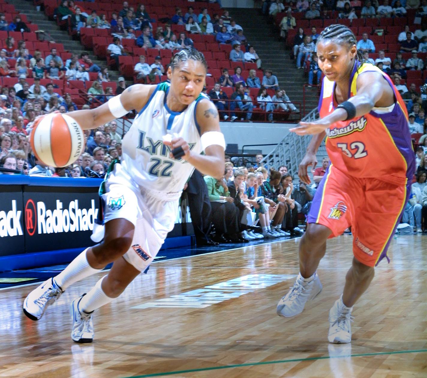
M 295 284 L 277 304 L 276 312 L 278 316 L 289 318 L 302 313 L 306 302 L 316 298 L 321 291 L 322 284 L 316 272 L 310 282 L 304 281 L 301 273 L 298 274 Z

